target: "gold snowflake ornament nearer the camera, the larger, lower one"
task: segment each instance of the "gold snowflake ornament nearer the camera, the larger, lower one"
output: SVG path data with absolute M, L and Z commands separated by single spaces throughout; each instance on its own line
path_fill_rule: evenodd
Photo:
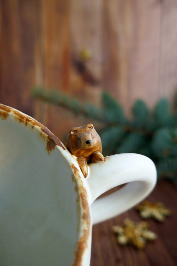
M 117 241 L 120 245 L 132 244 L 138 249 L 144 248 L 147 240 L 155 240 L 156 234 L 148 229 L 147 222 L 136 223 L 130 219 L 125 219 L 122 226 L 113 226 Z

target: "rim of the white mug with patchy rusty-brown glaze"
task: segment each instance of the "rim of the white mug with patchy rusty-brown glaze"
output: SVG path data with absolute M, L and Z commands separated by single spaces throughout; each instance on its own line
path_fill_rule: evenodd
M 3 104 L 0 104 L 0 118 L 6 120 L 9 116 L 13 117 L 19 123 L 24 124 L 25 126 L 30 125 L 32 129 L 37 129 L 40 132 L 40 137 L 46 142 L 46 151 L 50 155 L 51 151 L 55 147 L 60 150 L 62 155 L 68 160 L 68 154 L 72 158 L 73 155 L 69 153 L 63 143 L 56 137 L 47 127 L 40 124 L 38 121 L 33 119 L 26 114 Z M 83 178 L 81 177 L 81 171 L 76 167 L 76 164 L 72 160 L 68 160 L 69 165 L 71 166 L 73 175 L 72 181 L 75 182 L 75 192 L 77 194 L 77 203 L 81 208 L 81 222 L 79 225 L 80 237 L 76 243 L 75 247 L 75 259 L 73 266 L 82 266 L 84 263 L 84 254 L 89 252 L 89 238 L 91 235 L 91 216 L 90 216 L 90 207 L 89 207 L 89 196 L 86 191 L 86 188 L 83 184 Z M 88 257 L 88 256 L 86 256 Z

